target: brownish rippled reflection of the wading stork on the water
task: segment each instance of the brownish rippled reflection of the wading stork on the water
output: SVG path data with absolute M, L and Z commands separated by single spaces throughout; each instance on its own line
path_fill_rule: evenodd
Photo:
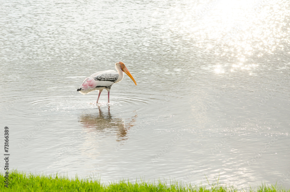
M 137 114 L 131 117 L 129 122 L 124 122 L 124 119 L 114 117 L 110 113 L 110 106 L 108 111 L 101 110 L 98 106 L 99 114 L 86 114 L 79 116 L 79 122 L 83 124 L 88 132 L 97 131 L 103 135 L 116 135 L 117 142 L 127 140 L 127 132 L 135 125 Z

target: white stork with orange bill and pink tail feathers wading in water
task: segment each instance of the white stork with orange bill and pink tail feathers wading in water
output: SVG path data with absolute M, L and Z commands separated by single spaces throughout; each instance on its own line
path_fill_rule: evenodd
M 108 91 L 108 103 L 110 103 L 110 90 L 111 86 L 114 83 L 121 81 L 124 77 L 123 72 L 125 72 L 137 85 L 135 79 L 132 77 L 131 73 L 126 68 L 123 62 L 115 63 L 115 68 L 117 71 L 114 70 L 106 70 L 94 73 L 90 77 L 87 77 L 83 84 L 81 84 L 80 88 L 77 91 L 83 95 L 86 95 L 94 90 L 99 90 L 99 96 L 97 99 L 97 103 L 99 102 L 100 95 L 104 89 Z

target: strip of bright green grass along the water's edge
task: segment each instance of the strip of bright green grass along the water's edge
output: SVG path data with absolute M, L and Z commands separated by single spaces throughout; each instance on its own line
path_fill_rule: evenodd
M 46 175 L 33 175 L 20 173 L 19 171 L 10 171 L 9 173 L 9 188 L 4 186 L 5 178 L 3 173 L 0 173 L 0 190 L 1 191 L 193 191 L 193 192 L 234 192 L 237 191 L 233 187 L 220 185 L 218 180 L 208 186 L 191 186 L 181 185 L 178 182 L 171 182 L 167 185 L 165 182 L 130 182 L 119 181 L 108 185 L 101 184 L 99 180 L 91 181 L 88 179 L 69 179 L 68 177 L 55 177 Z M 249 191 L 257 192 L 276 192 L 287 191 L 277 186 L 266 186 L 262 184 L 257 189 L 250 188 Z

